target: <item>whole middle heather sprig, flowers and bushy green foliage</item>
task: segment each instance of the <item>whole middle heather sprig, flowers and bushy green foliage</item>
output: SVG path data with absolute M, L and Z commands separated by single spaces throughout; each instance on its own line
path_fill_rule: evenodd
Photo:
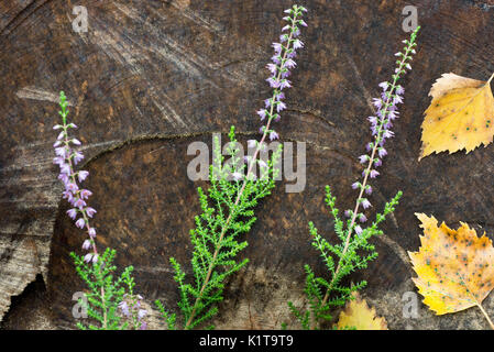
M 273 88 L 273 94 L 264 100 L 264 107 L 256 112 L 264 124 L 260 128 L 261 140 L 248 141 L 249 147 L 255 148 L 253 155 L 241 157 L 240 148 L 235 146 L 238 142 L 233 127 L 229 133 L 228 163 L 224 163 L 221 155 L 218 139 L 213 140 L 215 162 L 209 172 L 211 186 L 207 194 L 198 188 L 202 213 L 196 217 L 196 228 L 190 231 L 194 245 L 191 283 L 188 283 L 180 264 L 171 258 L 175 271 L 174 279 L 180 293 L 178 308 L 182 311 L 180 320 L 184 329 L 200 327 L 218 312 L 217 304 L 223 299 L 226 279 L 249 262 L 246 258 L 242 261 L 235 258 L 248 245 L 246 241 L 239 242 L 238 239 L 242 233 L 250 231 L 256 220 L 254 208 L 275 186 L 274 179 L 278 172 L 275 165 L 281 157 L 282 147 L 273 153 L 267 163 L 257 156 L 266 147 L 267 138 L 271 141 L 279 138 L 273 122 L 278 122 L 279 113 L 286 109 L 285 91 L 292 87 L 288 77 L 296 66 L 294 58 L 297 50 L 304 47 L 298 36 L 300 26 L 307 26 L 301 20 L 306 11 L 304 7 L 298 6 L 285 10 L 287 15 L 284 21 L 287 25 L 282 30 L 279 43 L 273 43 L 274 55 L 266 66 L 270 72 L 266 80 Z M 256 177 L 254 166 L 260 167 L 261 177 Z M 168 329 L 176 329 L 176 316 L 162 302 L 156 301 L 156 305 Z

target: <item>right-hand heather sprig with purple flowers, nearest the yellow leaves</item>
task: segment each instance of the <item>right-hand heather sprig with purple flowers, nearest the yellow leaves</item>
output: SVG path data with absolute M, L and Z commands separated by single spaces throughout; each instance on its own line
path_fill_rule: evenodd
M 369 117 L 371 123 L 372 141 L 366 144 L 367 153 L 359 157 L 359 162 L 366 164 L 362 173 L 362 179 L 352 184 L 352 188 L 359 190 L 353 210 L 345 210 L 347 221 L 340 218 L 339 210 L 336 207 L 336 197 L 331 195 L 329 186 L 326 187 L 326 204 L 330 208 L 334 218 L 334 232 L 341 243 L 330 244 L 322 238 L 312 222 L 309 222 L 309 232 L 312 238 L 312 246 L 316 248 L 329 273 L 329 279 L 317 277 L 312 270 L 305 265 L 307 296 L 307 309 L 296 308 L 293 302 L 288 302 L 290 311 L 300 322 L 304 329 L 318 329 L 321 321 L 330 322 L 332 320 L 331 309 L 343 306 L 349 299 L 352 299 L 352 293 L 365 287 L 366 282 L 362 280 L 350 286 L 342 283 L 343 278 L 351 273 L 365 268 L 370 261 L 377 257 L 375 246 L 369 242 L 374 235 L 383 232 L 378 224 L 386 219 L 386 216 L 395 210 L 402 191 L 385 205 L 384 211 L 377 213 L 375 220 L 364 227 L 367 222 L 365 210 L 372 207 L 369 196 L 372 195 L 372 186 L 369 185 L 370 178 L 380 175 L 377 167 L 382 165 L 383 158 L 387 155 L 384 148 L 386 141 L 394 136 L 392 131 L 394 121 L 398 118 L 397 106 L 403 102 L 405 89 L 398 85 L 398 80 L 411 69 L 410 61 L 415 54 L 416 36 L 419 28 L 411 33 L 409 40 L 403 41 L 405 44 L 403 52 L 396 53 L 396 69 L 391 81 L 380 84 L 382 89 L 381 97 L 373 99 L 373 106 L 377 109 L 375 116 Z M 359 223 L 358 223 L 359 222 Z

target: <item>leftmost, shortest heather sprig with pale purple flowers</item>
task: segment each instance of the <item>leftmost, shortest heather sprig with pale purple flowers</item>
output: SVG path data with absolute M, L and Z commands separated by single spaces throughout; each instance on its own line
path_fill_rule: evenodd
M 113 278 L 117 267 L 112 265 L 116 256 L 116 251 L 107 249 L 102 255 L 98 252 L 96 244 L 96 228 L 91 226 L 90 219 L 96 215 L 96 210 L 91 208 L 87 201 L 92 193 L 89 189 L 85 189 L 80 184 L 89 176 L 87 170 L 76 170 L 76 165 L 84 160 L 84 154 L 77 151 L 76 147 L 80 146 L 79 140 L 69 136 L 69 131 L 77 129 L 74 123 L 67 123 L 67 99 L 65 94 L 61 91 L 59 96 L 61 111 L 58 113 L 62 117 L 62 124 L 56 124 L 53 129 L 59 131 L 56 142 L 54 143 L 55 158 L 54 164 L 59 166 L 61 173 L 58 179 L 64 184 L 65 190 L 63 191 L 63 198 L 67 199 L 72 208 L 67 210 L 68 217 L 75 221 L 75 226 L 86 231 L 87 238 L 83 242 L 83 250 L 86 252 L 83 255 L 77 255 L 74 252 L 70 253 L 73 257 L 76 271 L 83 280 L 87 284 L 89 290 L 86 293 L 87 304 L 84 300 L 79 300 L 79 304 L 86 305 L 88 316 L 95 321 L 99 322 L 99 326 L 92 323 L 88 324 L 89 329 L 125 329 L 128 322 L 125 319 L 121 319 L 119 314 L 120 308 L 125 315 L 127 300 L 133 304 L 131 311 L 133 328 L 143 329 L 146 327 L 143 320 L 146 311 L 136 307 L 135 297 L 133 293 L 134 280 L 131 277 L 133 271 L 132 266 L 128 266 L 123 270 L 120 277 Z M 140 305 L 140 299 L 136 301 Z M 86 328 L 81 322 L 77 326 L 80 329 Z

